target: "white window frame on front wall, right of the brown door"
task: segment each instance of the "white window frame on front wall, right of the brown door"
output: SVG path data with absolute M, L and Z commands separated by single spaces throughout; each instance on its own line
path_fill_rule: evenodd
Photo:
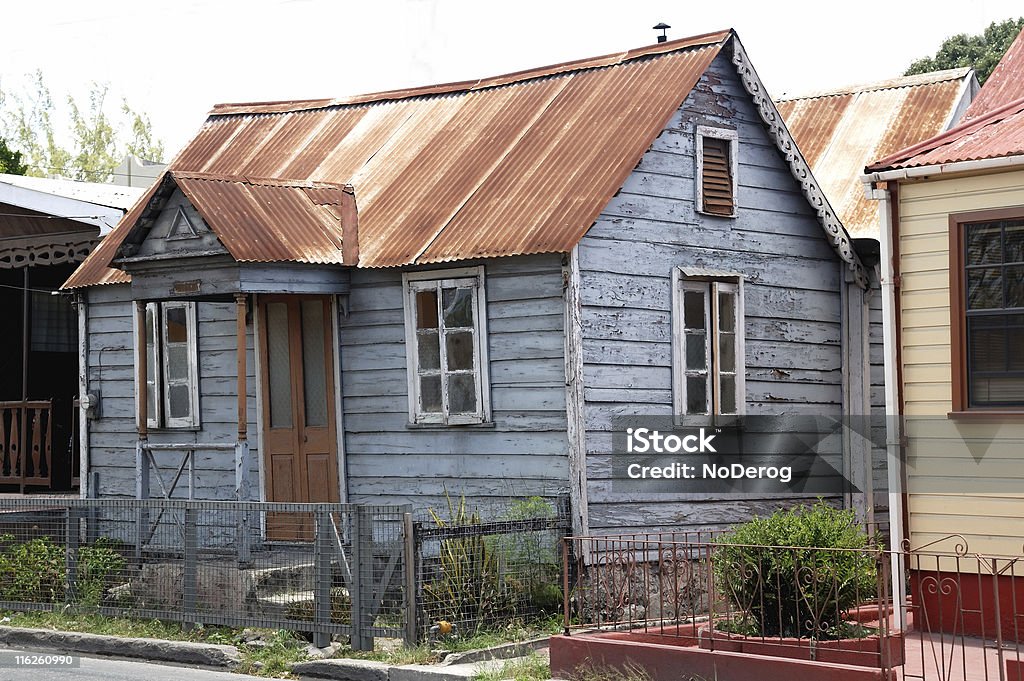
M 458 269 L 437 269 L 420 272 L 403 272 L 401 276 L 402 297 L 406 312 L 406 358 L 409 379 L 409 421 L 414 424 L 437 425 L 469 425 L 490 421 L 490 363 L 487 356 L 487 297 L 484 289 L 483 266 L 462 267 Z M 476 387 L 476 412 L 474 414 L 449 414 L 447 382 L 441 379 L 441 411 L 424 412 L 420 399 L 421 374 L 419 368 L 419 338 L 416 333 L 416 293 L 425 290 L 437 290 L 438 296 L 438 329 L 441 338 L 440 368 L 438 375 L 445 373 L 445 344 L 443 342 L 443 324 L 440 290 L 443 288 L 471 287 L 473 295 L 473 370 Z M 434 370 L 430 370 L 433 372 Z

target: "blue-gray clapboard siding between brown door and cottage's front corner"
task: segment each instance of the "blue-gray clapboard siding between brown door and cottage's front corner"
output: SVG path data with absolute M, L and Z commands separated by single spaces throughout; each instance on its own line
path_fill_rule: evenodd
M 561 256 L 482 264 L 493 427 L 409 426 L 401 272 L 352 271 L 338 334 L 352 502 L 442 509 L 447 492 L 489 511 L 567 488 Z

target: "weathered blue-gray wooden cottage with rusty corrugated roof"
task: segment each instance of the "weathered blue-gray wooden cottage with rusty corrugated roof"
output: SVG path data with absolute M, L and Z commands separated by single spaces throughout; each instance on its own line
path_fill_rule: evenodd
M 870 265 L 731 31 L 218 105 L 65 285 L 89 494 L 741 520 L 792 498 L 616 491 L 616 417 L 867 414 Z

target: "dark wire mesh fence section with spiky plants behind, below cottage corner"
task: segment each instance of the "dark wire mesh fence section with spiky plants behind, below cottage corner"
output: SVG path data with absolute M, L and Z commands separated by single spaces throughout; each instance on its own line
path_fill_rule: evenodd
M 452 499 L 443 512 L 429 513 L 415 525 L 420 638 L 558 616 L 568 534 L 567 497 L 484 511 Z

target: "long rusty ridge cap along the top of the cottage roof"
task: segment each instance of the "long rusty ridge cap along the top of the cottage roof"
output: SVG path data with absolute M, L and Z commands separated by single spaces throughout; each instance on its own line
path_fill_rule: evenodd
M 316 109 L 328 109 L 331 107 L 365 104 L 394 99 L 410 99 L 417 96 L 471 92 L 492 87 L 512 85 L 514 83 L 522 83 L 539 78 L 559 76 L 566 73 L 620 66 L 646 56 L 668 54 L 670 52 L 676 52 L 690 47 L 706 47 L 709 45 L 723 44 L 733 35 L 735 35 L 735 32 L 732 29 L 713 31 L 696 36 L 689 36 L 687 38 L 680 38 L 678 40 L 670 40 L 664 43 L 655 43 L 653 45 L 633 48 L 622 52 L 612 52 L 610 54 L 587 57 L 584 59 L 562 61 L 559 63 L 537 67 L 522 71 L 514 71 L 486 78 L 399 88 L 395 90 L 383 90 L 380 92 L 357 94 L 334 99 L 297 99 L 295 101 L 220 103 L 214 104 L 213 109 L 209 113 L 209 116 L 285 114 L 301 111 L 313 111 Z

